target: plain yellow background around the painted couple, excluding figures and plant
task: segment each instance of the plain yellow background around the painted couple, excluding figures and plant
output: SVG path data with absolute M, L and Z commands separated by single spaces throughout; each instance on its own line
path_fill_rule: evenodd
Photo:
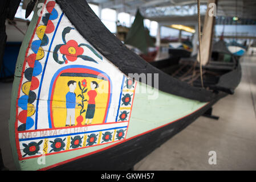
M 78 97 L 82 91 L 79 88 L 78 82 L 82 82 L 82 80 L 86 79 L 87 85 L 86 88 L 88 89 L 86 93 L 84 93 L 84 98 L 86 100 L 89 99 L 88 92 L 91 90 L 91 81 L 96 81 L 99 84 L 99 88 L 96 88 L 95 91 L 97 92 L 97 96 L 95 98 L 95 114 L 94 118 L 92 119 L 91 124 L 96 123 L 103 123 L 105 111 L 107 109 L 107 101 L 108 101 L 108 81 L 101 80 L 98 78 L 93 77 L 72 77 L 72 76 L 60 76 L 56 81 L 55 89 L 54 89 L 54 96 L 52 99 L 52 115 L 53 115 L 53 122 L 55 127 L 64 127 L 66 126 L 66 116 L 67 116 L 67 109 L 66 109 L 66 94 L 69 92 L 69 87 L 67 85 L 68 81 L 74 80 L 76 81 L 76 107 L 75 107 L 75 125 L 77 125 L 76 118 L 80 115 L 80 110 L 82 109 L 81 106 L 78 104 L 82 104 L 82 98 Z M 81 84 L 82 89 L 83 85 Z M 100 90 L 99 90 L 100 89 Z M 100 92 L 99 92 L 100 91 Z M 88 102 L 84 102 L 84 109 L 87 110 Z M 84 125 L 86 121 L 86 112 L 82 113 Z

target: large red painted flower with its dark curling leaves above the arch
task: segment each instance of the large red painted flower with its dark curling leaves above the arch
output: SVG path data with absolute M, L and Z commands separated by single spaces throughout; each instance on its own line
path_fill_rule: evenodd
M 62 40 L 64 44 L 59 44 L 54 48 L 54 52 L 52 56 L 54 57 L 54 60 L 56 61 L 56 63 L 67 64 L 68 61 L 73 62 L 73 61 L 76 61 L 78 58 L 81 58 L 85 61 L 91 61 L 91 62 L 97 63 L 97 61 L 94 60 L 92 57 L 83 55 L 84 49 L 82 48 L 82 46 L 87 47 L 88 49 L 90 49 L 90 51 L 92 51 L 92 53 L 94 53 L 94 55 L 99 57 L 100 60 L 103 60 L 103 57 L 100 56 L 95 51 L 95 49 L 92 48 L 89 44 L 78 45 L 78 43 L 75 40 L 68 40 L 68 42 L 66 42 L 66 35 L 70 33 L 71 30 L 74 30 L 74 28 L 72 27 L 64 28 L 62 32 Z M 59 60 L 58 51 L 62 54 L 63 61 Z

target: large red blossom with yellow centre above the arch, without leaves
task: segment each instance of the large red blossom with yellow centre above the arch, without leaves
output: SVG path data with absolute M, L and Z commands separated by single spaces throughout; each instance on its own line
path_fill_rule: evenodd
M 69 40 L 67 44 L 63 45 L 59 49 L 60 53 L 66 55 L 69 61 L 75 61 L 78 59 L 79 55 L 82 55 L 84 49 L 78 46 L 78 43 L 75 40 Z

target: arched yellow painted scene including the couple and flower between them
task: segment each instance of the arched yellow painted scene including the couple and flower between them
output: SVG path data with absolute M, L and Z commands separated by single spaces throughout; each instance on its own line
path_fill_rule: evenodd
M 110 94 L 106 78 L 92 73 L 62 73 L 52 91 L 54 127 L 104 123 Z

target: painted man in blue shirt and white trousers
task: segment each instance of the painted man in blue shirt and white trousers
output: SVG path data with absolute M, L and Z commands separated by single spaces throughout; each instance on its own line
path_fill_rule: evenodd
M 76 81 L 70 80 L 67 83 L 67 86 L 70 88 L 70 92 L 66 94 L 66 107 L 67 107 L 67 119 L 66 126 L 75 125 L 75 107 L 76 107 Z

